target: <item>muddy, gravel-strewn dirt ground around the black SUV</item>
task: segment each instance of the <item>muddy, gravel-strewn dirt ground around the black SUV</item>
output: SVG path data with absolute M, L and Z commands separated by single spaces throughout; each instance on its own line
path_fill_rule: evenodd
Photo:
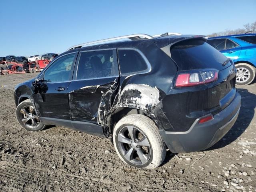
M 14 86 L 34 76 L 0 76 L 1 192 L 256 192 L 256 83 L 237 87 L 242 96 L 238 120 L 212 148 L 168 151 L 162 166 L 142 170 L 124 164 L 106 138 L 57 126 L 40 132 L 21 128 Z

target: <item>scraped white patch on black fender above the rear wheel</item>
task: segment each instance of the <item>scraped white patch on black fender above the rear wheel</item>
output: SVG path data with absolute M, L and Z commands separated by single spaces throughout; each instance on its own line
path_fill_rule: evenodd
M 122 90 L 121 95 L 124 94 L 127 90 L 138 90 L 141 92 L 141 97 L 132 97 L 131 102 L 133 104 L 138 105 L 140 108 L 145 109 L 146 106 L 156 106 L 159 101 L 159 90 L 156 87 L 150 87 L 146 84 L 128 84 L 125 86 L 125 88 Z M 122 101 L 124 104 L 127 104 L 127 98 L 126 101 Z

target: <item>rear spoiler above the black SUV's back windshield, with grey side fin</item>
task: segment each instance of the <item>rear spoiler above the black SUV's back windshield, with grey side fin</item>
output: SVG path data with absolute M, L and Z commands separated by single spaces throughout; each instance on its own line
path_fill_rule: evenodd
M 171 46 L 173 46 L 174 44 L 184 41 L 184 40 L 189 40 L 189 39 L 201 39 L 206 41 L 208 39 L 208 37 L 204 36 L 204 35 L 187 35 L 187 36 L 171 36 L 169 38 L 164 38 L 164 37 L 160 37 L 160 38 L 155 38 L 154 42 L 156 44 L 156 46 L 158 46 L 158 48 L 160 48 L 163 52 L 165 52 L 169 57 L 171 57 L 171 52 L 170 52 L 170 48 Z

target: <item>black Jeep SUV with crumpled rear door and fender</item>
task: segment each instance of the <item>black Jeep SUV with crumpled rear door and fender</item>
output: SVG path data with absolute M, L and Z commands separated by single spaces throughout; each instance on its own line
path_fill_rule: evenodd
M 174 153 L 205 150 L 230 130 L 240 110 L 236 68 L 205 36 L 109 40 L 121 38 L 131 40 L 73 46 L 18 84 L 20 125 L 106 136 L 124 162 L 140 168 L 158 167 L 166 146 Z

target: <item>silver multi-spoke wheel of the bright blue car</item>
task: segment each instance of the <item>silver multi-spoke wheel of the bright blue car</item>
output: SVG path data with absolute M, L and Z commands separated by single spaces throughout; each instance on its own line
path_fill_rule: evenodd
M 247 63 L 236 64 L 236 84 L 248 85 L 255 78 L 255 68 Z

